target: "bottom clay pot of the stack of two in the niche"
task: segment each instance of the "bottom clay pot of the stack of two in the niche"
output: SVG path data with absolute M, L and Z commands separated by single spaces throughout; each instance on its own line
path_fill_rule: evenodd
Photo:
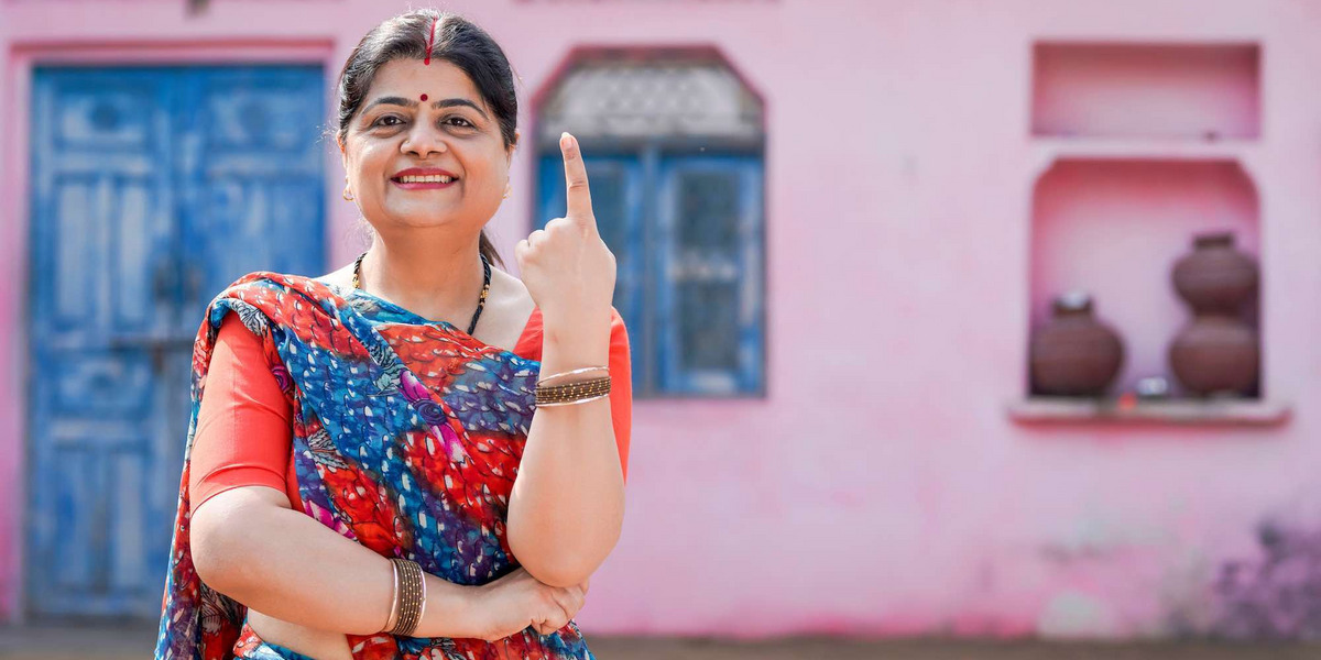
M 1199 315 L 1174 337 L 1169 366 L 1193 393 L 1247 395 L 1260 366 L 1256 331 L 1232 317 Z

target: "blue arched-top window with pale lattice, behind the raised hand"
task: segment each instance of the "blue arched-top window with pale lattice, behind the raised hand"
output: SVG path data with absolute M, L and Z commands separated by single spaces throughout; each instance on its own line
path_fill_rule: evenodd
M 711 51 L 580 57 L 540 104 L 534 224 L 564 215 L 569 131 L 618 260 L 638 396 L 764 392 L 762 127 Z

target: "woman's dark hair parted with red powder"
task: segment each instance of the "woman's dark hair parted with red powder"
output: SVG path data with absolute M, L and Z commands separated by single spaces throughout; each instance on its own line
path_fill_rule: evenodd
M 339 71 L 339 125 L 336 141 L 345 144 L 349 123 L 362 107 L 367 88 L 382 66 L 395 59 L 425 59 L 428 54 L 432 59 L 444 59 L 468 74 L 486 107 L 495 115 L 505 148 L 513 147 L 517 140 L 514 129 L 518 128 L 518 98 L 514 94 L 514 71 L 509 58 L 486 30 L 466 18 L 436 9 L 416 9 L 388 18 L 373 28 L 353 49 Z M 481 252 L 489 261 L 505 264 L 485 230 L 481 234 Z

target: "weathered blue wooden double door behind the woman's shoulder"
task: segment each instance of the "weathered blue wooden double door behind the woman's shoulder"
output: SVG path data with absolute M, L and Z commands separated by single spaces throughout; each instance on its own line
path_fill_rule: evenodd
M 38 69 L 25 593 L 160 614 L 207 301 L 324 260 L 318 67 Z

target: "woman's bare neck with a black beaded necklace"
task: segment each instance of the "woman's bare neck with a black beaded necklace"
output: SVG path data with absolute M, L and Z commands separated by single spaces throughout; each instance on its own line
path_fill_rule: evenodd
M 376 235 L 362 259 L 359 284 L 423 318 L 466 330 L 482 293 L 478 242 L 435 243 Z

